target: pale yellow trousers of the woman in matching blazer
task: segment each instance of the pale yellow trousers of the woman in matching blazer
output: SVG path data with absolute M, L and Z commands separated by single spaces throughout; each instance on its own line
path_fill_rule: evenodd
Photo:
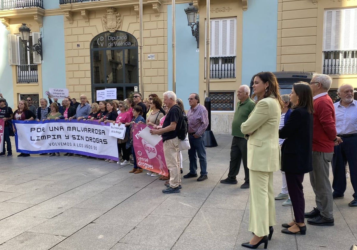
M 273 172 L 249 169 L 249 179 L 249 231 L 262 237 L 269 234 L 269 226 L 276 225 Z

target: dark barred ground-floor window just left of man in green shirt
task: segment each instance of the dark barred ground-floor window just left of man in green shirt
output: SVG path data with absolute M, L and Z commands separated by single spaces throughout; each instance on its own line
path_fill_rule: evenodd
M 234 111 L 234 92 L 210 92 L 212 111 Z

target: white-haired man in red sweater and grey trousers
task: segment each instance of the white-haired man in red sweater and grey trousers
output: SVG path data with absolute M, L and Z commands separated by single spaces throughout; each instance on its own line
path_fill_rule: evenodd
M 310 182 L 315 192 L 317 208 L 305 213 L 308 224 L 333 226 L 333 198 L 330 174 L 330 162 L 333 147 L 341 142 L 336 137 L 335 108 L 327 91 L 332 78 L 328 75 L 315 73 L 310 86 L 313 94 L 313 137 L 312 137 L 312 171 Z

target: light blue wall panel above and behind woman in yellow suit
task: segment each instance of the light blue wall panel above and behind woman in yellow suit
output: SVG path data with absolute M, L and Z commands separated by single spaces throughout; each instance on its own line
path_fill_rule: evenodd
M 243 11 L 242 85 L 253 75 L 276 71 L 277 1 L 248 1 Z

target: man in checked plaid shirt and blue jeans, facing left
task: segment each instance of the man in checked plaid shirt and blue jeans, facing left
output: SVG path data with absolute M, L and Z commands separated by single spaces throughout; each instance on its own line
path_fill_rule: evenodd
M 196 93 L 190 94 L 188 103 L 191 108 L 187 112 L 188 118 L 188 141 L 191 148 L 188 149 L 190 160 L 190 173 L 183 178 L 197 177 L 197 155 L 200 159 L 200 177 L 197 181 L 207 180 L 207 159 L 205 149 L 205 131 L 208 127 L 208 112 L 205 106 L 200 104 L 200 97 Z M 197 152 L 197 155 L 196 155 Z

